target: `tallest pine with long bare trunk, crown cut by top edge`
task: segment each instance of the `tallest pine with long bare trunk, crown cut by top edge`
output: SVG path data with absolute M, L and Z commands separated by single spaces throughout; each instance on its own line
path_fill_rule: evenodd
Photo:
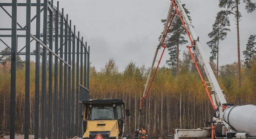
M 256 9 L 256 3 L 251 0 L 243 0 L 247 13 L 252 13 Z M 219 0 L 219 7 L 226 8 L 229 14 L 235 15 L 236 32 L 237 32 L 237 61 L 238 61 L 238 87 L 241 88 L 241 61 L 240 61 L 240 36 L 239 36 L 239 21 L 242 17 L 239 12 L 240 0 Z

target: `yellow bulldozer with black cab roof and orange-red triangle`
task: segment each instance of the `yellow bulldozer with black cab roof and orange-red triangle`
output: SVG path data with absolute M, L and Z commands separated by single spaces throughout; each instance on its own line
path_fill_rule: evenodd
M 122 99 L 93 99 L 82 101 L 84 105 L 83 139 L 120 139 L 124 132 L 124 111 Z

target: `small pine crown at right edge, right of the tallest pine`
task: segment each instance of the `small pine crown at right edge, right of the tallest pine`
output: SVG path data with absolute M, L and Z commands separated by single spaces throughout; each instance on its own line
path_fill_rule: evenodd
M 251 68 L 251 61 L 256 56 L 256 35 L 250 35 L 246 44 L 246 50 L 243 51 L 245 62 L 247 67 Z

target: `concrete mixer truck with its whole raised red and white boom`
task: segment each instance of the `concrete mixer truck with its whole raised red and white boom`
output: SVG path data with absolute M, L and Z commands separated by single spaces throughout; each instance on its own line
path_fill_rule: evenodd
M 199 41 L 199 37 L 195 34 L 194 27 L 191 24 L 185 10 L 183 9 L 180 0 L 170 1 L 171 4 L 164 26 L 164 31 L 162 33 L 160 43 L 156 48 L 152 67 L 150 69 L 148 80 L 145 85 L 145 90 L 149 90 L 152 80 L 154 80 L 154 76 L 153 79 L 150 76 L 151 71 L 154 68 L 155 57 L 157 56 L 158 50 L 161 47 L 165 46 L 164 40 L 167 36 L 167 32 L 171 26 L 173 18 L 177 14 L 182 21 L 182 25 L 184 26 L 184 29 L 191 43 L 187 46 L 187 48 L 195 63 L 195 67 L 202 80 L 203 87 L 205 88 L 208 94 L 211 105 L 215 110 L 212 122 L 210 123 L 209 127 L 199 129 L 175 129 L 175 139 L 256 139 L 256 106 L 233 106 L 233 104 L 227 103 L 225 95 L 223 94 L 223 91 L 216 80 L 213 70 L 210 67 L 209 61 L 206 59 L 204 55 L 202 45 Z M 194 57 L 194 54 L 197 56 L 197 58 Z M 204 72 L 206 73 L 208 81 L 205 81 L 204 78 L 202 77 L 199 66 L 201 66 Z M 150 79 L 151 83 L 149 84 Z M 147 93 L 146 91 L 144 91 L 141 101 L 146 97 Z

